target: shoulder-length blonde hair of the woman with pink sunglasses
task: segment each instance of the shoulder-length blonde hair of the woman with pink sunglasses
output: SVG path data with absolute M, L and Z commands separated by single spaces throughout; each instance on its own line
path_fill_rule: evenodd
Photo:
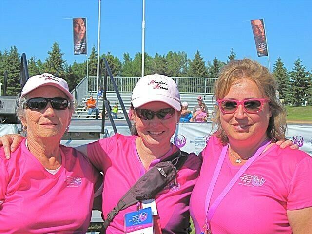
M 251 59 L 233 60 L 225 65 L 219 73 L 219 78 L 215 83 L 215 99 L 223 99 L 230 91 L 234 83 L 241 79 L 249 79 L 255 83 L 260 92 L 270 100 L 269 105 L 272 117 L 269 119 L 267 128 L 268 137 L 273 140 L 285 139 L 286 132 L 286 110 L 276 96 L 277 84 L 269 70 Z M 229 142 L 224 129 L 221 126 L 220 111 L 215 107 L 214 127 L 215 134 L 221 139 L 223 144 Z

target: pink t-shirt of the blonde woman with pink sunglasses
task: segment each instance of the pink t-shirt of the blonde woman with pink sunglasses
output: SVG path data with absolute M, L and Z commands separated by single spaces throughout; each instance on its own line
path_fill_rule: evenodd
M 205 201 L 222 145 L 210 137 L 194 187 L 190 211 L 196 234 L 205 224 Z M 225 157 L 210 205 L 239 170 Z M 245 171 L 211 219 L 213 234 L 291 234 L 286 210 L 312 206 L 312 158 L 300 150 L 273 145 Z

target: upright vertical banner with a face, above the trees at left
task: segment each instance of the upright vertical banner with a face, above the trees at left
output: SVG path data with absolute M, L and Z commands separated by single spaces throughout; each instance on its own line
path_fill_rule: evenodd
M 73 18 L 74 54 L 87 54 L 87 24 L 86 18 Z

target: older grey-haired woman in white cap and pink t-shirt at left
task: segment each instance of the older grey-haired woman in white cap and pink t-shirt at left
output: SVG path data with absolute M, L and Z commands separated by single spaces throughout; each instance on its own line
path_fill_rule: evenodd
M 17 115 L 27 138 L 10 160 L 0 150 L 0 233 L 87 231 L 102 178 L 80 152 L 59 144 L 73 100 L 62 78 L 45 73 L 26 82 Z

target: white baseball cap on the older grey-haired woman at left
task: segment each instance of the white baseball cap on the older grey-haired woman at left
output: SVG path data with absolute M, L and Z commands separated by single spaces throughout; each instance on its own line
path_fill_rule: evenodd
M 68 98 L 73 99 L 73 95 L 69 92 L 68 84 L 67 82 L 59 77 L 55 77 L 52 74 L 49 73 L 43 73 L 41 75 L 36 75 L 30 77 L 25 86 L 23 87 L 21 91 L 20 97 L 24 97 L 26 94 L 30 93 L 31 91 L 42 87 L 42 86 L 54 86 L 59 88 L 61 91 L 63 91 Z

